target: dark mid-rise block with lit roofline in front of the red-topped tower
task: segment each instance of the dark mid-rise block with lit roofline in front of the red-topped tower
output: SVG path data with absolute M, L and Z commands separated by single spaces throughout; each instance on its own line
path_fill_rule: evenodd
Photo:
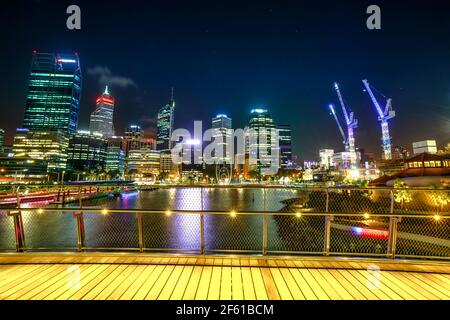
M 72 135 L 67 149 L 67 168 L 71 170 L 95 170 L 106 168 L 107 140 L 99 133 L 78 131 Z

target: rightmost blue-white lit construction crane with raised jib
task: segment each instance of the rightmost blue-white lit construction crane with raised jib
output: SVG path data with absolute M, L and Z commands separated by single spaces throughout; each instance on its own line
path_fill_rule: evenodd
M 389 135 L 389 125 L 388 120 L 395 117 L 395 111 L 392 110 L 392 99 L 387 98 L 386 99 L 386 106 L 384 107 L 384 110 L 381 108 L 380 104 L 378 103 L 377 99 L 375 98 L 375 95 L 373 94 L 373 90 L 376 90 L 374 87 L 372 87 L 369 84 L 369 81 L 363 80 L 362 81 L 367 93 L 370 96 L 370 99 L 372 100 L 373 105 L 375 106 L 375 109 L 378 113 L 378 120 L 381 122 L 381 147 L 383 149 L 383 156 L 385 160 L 391 160 L 392 159 L 392 144 L 391 144 L 391 136 Z M 378 90 L 376 90 L 379 92 Z M 381 94 L 381 93 L 380 93 Z M 384 98 L 386 98 L 383 94 L 381 94 Z

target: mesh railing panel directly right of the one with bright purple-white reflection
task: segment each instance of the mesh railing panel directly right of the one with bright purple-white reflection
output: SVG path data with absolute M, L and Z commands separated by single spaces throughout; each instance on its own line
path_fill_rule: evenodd
M 262 215 L 205 214 L 205 250 L 261 251 Z

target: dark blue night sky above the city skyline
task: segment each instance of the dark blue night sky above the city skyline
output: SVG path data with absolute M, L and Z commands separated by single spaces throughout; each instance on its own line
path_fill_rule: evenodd
M 78 4 L 82 29 L 66 28 Z M 382 30 L 366 28 L 378 4 Z M 294 153 L 341 150 L 327 105 L 337 81 L 359 119 L 356 145 L 381 153 L 380 126 L 361 80 L 393 99 L 394 145 L 450 141 L 449 1 L 8 1 L 0 12 L 0 127 L 11 142 L 22 125 L 33 49 L 80 54 L 79 129 L 110 83 L 116 133 L 132 123 L 154 132 L 175 87 L 175 127 L 210 125 L 226 113 L 235 128 L 266 106 L 290 124 Z M 339 109 L 340 111 L 340 109 Z M 206 129 L 206 128 L 205 128 Z

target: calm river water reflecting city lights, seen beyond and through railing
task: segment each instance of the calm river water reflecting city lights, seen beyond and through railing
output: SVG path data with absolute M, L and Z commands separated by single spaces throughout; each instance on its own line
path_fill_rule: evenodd
M 284 189 L 173 188 L 124 194 L 95 208 L 185 210 L 185 214 L 143 215 L 145 248 L 188 250 L 200 248 L 200 215 L 189 210 L 229 212 L 278 212 L 283 200 L 301 196 L 302 191 Z M 304 193 L 303 193 L 304 195 Z M 87 207 L 87 205 L 86 205 Z M 268 216 L 268 250 L 321 252 L 324 243 L 323 217 Z M 84 213 L 86 247 L 91 249 L 136 249 L 138 225 L 134 213 Z M 23 212 L 26 246 L 29 248 L 76 248 L 76 218 L 71 213 Z M 261 251 L 263 217 L 229 214 L 204 216 L 205 249 Z M 376 252 L 387 249 L 387 241 L 362 239 L 348 232 L 331 230 L 332 251 Z M 333 240 L 334 239 L 334 240 Z M 0 249 L 14 248 L 12 219 L 0 211 Z

